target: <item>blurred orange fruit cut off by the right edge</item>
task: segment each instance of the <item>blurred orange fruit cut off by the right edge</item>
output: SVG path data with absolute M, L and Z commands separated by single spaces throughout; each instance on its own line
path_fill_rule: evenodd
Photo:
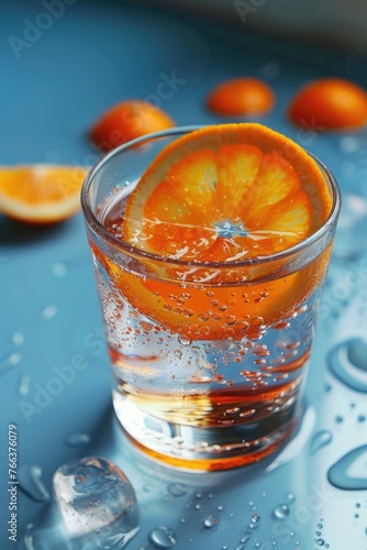
M 313 131 L 360 128 L 367 122 L 367 94 L 348 80 L 323 78 L 296 95 L 289 117 Z

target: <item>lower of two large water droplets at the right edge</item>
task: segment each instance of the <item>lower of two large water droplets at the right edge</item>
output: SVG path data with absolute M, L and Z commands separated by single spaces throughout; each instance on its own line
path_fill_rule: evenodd
M 367 446 L 347 452 L 330 468 L 327 472 L 330 483 L 337 488 L 366 491 L 366 461 Z

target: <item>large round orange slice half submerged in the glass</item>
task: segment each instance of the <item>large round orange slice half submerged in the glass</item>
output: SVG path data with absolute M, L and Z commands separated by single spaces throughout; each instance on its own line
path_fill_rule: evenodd
M 323 175 L 299 145 L 259 124 L 208 127 L 168 145 L 127 200 L 124 240 L 166 262 L 146 260 L 142 277 L 94 253 L 129 301 L 166 329 L 254 337 L 312 294 L 330 248 L 283 276 L 265 277 L 253 261 L 316 231 L 330 209 Z

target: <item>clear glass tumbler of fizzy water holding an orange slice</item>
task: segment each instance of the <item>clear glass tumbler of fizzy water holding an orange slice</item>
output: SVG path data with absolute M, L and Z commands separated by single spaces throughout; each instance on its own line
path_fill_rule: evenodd
M 137 250 L 111 228 L 155 156 L 192 130 L 115 148 L 88 175 L 81 201 L 122 427 L 152 459 L 225 470 L 265 458 L 298 422 L 341 198 L 315 160 L 332 210 L 296 246 L 194 265 Z

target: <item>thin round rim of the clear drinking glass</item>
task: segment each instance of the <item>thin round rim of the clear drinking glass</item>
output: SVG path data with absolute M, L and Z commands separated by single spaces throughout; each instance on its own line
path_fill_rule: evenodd
M 114 237 L 112 233 L 110 233 L 104 226 L 99 221 L 97 216 L 94 215 L 91 206 L 90 206 L 90 200 L 89 200 L 89 189 L 91 188 L 96 176 L 98 173 L 103 168 L 103 166 L 109 163 L 111 158 L 114 158 L 119 156 L 121 153 L 124 151 L 130 151 L 135 148 L 136 145 L 140 145 L 144 142 L 160 139 L 160 138 L 171 138 L 175 135 L 182 135 L 186 133 L 190 133 L 193 130 L 199 130 L 201 128 L 210 127 L 213 124 L 196 124 L 196 125 L 185 125 L 185 127 L 174 127 L 169 128 L 167 130 L 162 130 L 159 132 L 153 132 L 149 134 L 142 135 L 140 138 L 136 138 L 134 140 L 131 140 L 126 143 L 123 143 L 122 145 L 116 146 L 112 151 L 108 152 L 105 155 L 103 155 L 88 172 L 87 177 L 82 184 L 81 187 L 81 194 L 80 194 L 80 200 L 81 200 L 81 208 L 82 212 L 85 216 L 85 219 L 88 223 L 89 227 L 94 227 L 98 231 L 98 234 L 107 241 L 109 244 L 111 244 L 114 249 L 119 249 L 120 252 L 124 252 L 129 255 L 134 255 L 136 258 L 142 258 L 144 261 L 153 261 L 157 263 L 162 263 L 164 265 L 170 264 L 177 267 L 204 267 L 204 268 L 244 268 L 244 267 L 249 267 L 249 266 L 257 266 L 257 265 L 264 265 L 267 263 L 276 262 L 276 261 L 281 261 L 286 260 L 287 257 L 291 257 L 294 254 L 300 253 L 301 251 L 305 250 L 308 246 L 315 244 L 319 240 L 321 240 L 327 232 L 329 230 L 333 227 L 334 222 L 336 222 L 340 210 L 341 210 L 341 204 L 342 204 L 342 197 L 341 197 L 341 190 L 338 187 L 338 184 L 331 173 L 331 170 L 323 164 L 322 161 L 320 161 L 315 155 L 310 153 L 308 150 L 304 150 L 308 155 L 311 156 L 318 164 L 319 168 L 322 169 L 323 177 L 325 177 L 331 186 L 331 189 L 333 191 L 333 197 L 332 197 L 332 206 L 330 213 L 326 218 L 326 220 L 323 222 L 323 224 L 311 235 L 307 237 L 305 239 L 301 240 L 299 243 L 294 244 L 293 246 L 290 246 L 288 249 L 285 249 L 280 252 L 276 252 L 275 254 L 269 254 L 267 256 L 258 256 L 258 257 L 253 257 L 253 258 L 245 258 L 242 261 L 231 261 L 231 262 L 204 262 L 204 261 L 198 261 L 198 260 L 179 260 L 179 258 L 170 258 L 167 256 L 163 256 L 159 254 L 154 254 L 152 252 L 147 252 L 141 249 L 137 249 L 133 244 L 129 244 L 125 241 L 122 241 L 121 239 L 118 239 Z M 297 143 L 297 142 L 294 142 Z

